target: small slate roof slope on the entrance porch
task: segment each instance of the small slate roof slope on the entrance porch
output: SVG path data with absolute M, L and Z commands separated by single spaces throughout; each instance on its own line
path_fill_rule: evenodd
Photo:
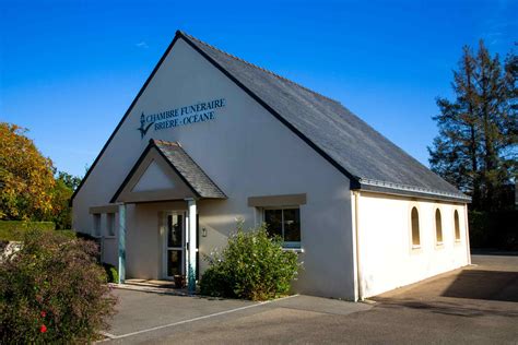
M 207 176 L 179 143 L 152 139 L 154 145 L 178 175 L 200 198 L 225 199 L 225 193 Z

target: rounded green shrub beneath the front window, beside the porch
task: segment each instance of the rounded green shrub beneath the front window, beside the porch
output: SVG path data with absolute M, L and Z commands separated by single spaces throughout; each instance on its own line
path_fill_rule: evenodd
M 201 277 L 201 294 L 215 297 L 274 298 L 290 292 L 298 270 L 297 254 L 284 251 L 264 226 L 244 231 L 239 224 L 227 247 L 205 260 L 210 267 Z

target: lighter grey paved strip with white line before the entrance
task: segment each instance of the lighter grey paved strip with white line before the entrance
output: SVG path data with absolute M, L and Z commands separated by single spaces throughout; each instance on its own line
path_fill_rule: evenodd
M 105 332 L 109 341 L 127 343 L 156 338 L 191 329 L 203 323 L 220 323 L 224 320 L 243 319 L 271 313 L 276 309 L 291 309 L 293 313 L 332 313 L 346 316 L 368 310 L 366 304 L 311 296 L 290 296 L 272 301 L 252 302 L 237 299 L 213 299 L 193 296 L 175 296 L 129 289 L 117 289 L 118 313 L 111 329 Z M 275 312 L 273 312 L 275 313 Z

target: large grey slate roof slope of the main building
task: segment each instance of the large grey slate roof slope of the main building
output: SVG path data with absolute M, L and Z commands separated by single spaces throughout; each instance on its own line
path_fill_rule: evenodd
M 344 172 L 353 189 L 470 200 L 339 102 L 183 32 L 178 36 Z

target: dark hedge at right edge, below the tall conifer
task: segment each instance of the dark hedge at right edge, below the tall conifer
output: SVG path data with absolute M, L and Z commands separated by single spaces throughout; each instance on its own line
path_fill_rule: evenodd
M 478 212 L 468 215 L 472 248 L 518 250 L 518 211 Z

